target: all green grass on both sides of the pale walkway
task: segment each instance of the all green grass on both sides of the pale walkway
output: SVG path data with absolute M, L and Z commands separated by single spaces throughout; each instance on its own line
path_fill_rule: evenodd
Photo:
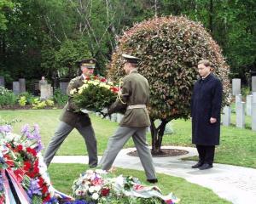
M 16 111 L 0 111 L 0 116 L 6 121 L 12 119 L 20 119 L 14 125 L 14 133 L 20 133 L 20 127 L 24 124 L 38 123 L 44 145 L 49 143 L 49 139 L 55 132 L 58 125 L 58 118 L 61 110 L 16 110 Z M 111 136 L 118 127 L 118 123 L 102 120 L 95 114 L 90 114 L 93 127 L 96 131 L 98 141 L 98 155 L 102 155 L 107 147 L 108 137 Z M 234 117 L 234 116 L 232 116 Z M 250 117 L 246 118 L 246 123 L 250 124 Z M 163 145 L 178 145 L 178 146 L 194 146 L 191 144 L 191 122 L 184 120 L 175 120 L 172 122 L 174 133 L 165 135 Z M 151 143 L 148 133 L 148 144 Z M 130 140 L 125 147 L 133 146 Z M 234 126 L 221 127 L 221 145 L 216 150 L 215 162 L 232 164 L 242 167 L 256 168 L 256 133 L 249 128 L 241 129 Z M 74 130 L 66 139 L 58 155 L 84 155 L 84 141 L 79 133 Z M 196 158 L 189 158 L 196 159 Z M 79 177 L 79 173 L 84 172 L 88 167 L 82 164 L 52 164 L 49 167 L 49 173 L 55 188 L 72 193 L 71 186 L 73 179 Z M 137 176 L 142 181 L 145 180 L 144 173 L 130 169 L 118 169 L 117 174 L 124 173 Z M 181 203 L 228 203 L 217 195 L 196 184 L 190 184 L 183 178 L 176 178 L 159 174 L 159 186 L 164 193 L 173 191 L 177 197 L 182 198 Z M 65 179 L 63 179 L 65 178 Z M 204 201 L 207 199 L 206 202 Z

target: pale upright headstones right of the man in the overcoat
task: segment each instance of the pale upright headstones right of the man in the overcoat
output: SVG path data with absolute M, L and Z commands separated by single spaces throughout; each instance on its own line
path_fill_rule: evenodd
M 247 95 L 246 102 L 241 98 L 241 79 L 232 80 L 232 94 L 236 97 L 236 127 L 245 128 L 245 116 L 252 116 L 252 130 L 256 131 L 256 77 L 252 77 L 252 94 Z M 231 108 L 225 106 L 222 122 L 230 126 Z

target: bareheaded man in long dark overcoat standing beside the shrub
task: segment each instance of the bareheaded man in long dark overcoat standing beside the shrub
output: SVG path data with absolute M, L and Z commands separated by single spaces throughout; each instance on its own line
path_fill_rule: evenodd
M 219 144 L 222 83 L 211 73 L 211 63 L 198 63 L 201 78 L 195 82 L 192 101 L 192 143 L 196 145 L 199 161 L 192 168 L 212 167 L 215 145 Z

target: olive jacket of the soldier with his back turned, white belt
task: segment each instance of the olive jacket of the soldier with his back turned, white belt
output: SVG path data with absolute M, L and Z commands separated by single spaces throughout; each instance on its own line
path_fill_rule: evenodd
M 125 115 L 120 122 L 123 127 L 148 127 L 150 120 L 147 109 L 126 108 L 129 105 L 148 105 L 149 86 L 148 80 L 137 72 L 132 70 L 129 75 L 123 78 L 121 91 L 118 99 L 110 106 L 108 114 L 113 112 L 125 111 Z

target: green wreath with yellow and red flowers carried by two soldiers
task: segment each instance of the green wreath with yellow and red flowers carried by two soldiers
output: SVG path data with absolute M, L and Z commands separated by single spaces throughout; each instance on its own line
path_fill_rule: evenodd
M 111 105 L 119 92 L 119 88 L 104 77 L 86 77 L 84 84 L 70 91 L 73 104 L 78 110 L 102 111 Z

